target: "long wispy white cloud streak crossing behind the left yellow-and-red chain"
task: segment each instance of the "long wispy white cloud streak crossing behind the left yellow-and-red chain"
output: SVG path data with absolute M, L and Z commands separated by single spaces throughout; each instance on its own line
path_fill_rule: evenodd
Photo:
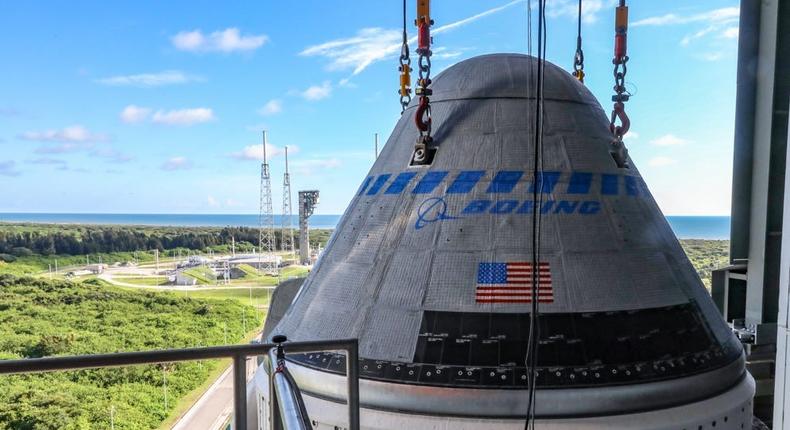
M 503 6 L 488 9 L 477 15 L 436 27 L 432 34 L 441 34 L 456 29 L 518 3 L 525 3 L 525 0 L 514 0 Z M 401 37 L 402 33 L 397 29 L 363 28 L 357 31 L 355 36 L 335 39 L 307 47 L 299 55 L 326 58 L 329 60 L 327 69 L 353 70 L 352 74 L 357 75 L 377 61 L 396 56 L 400 52 Z M 416 38 L 411 38 L 409 43 L 414 44 L 416 40 Z

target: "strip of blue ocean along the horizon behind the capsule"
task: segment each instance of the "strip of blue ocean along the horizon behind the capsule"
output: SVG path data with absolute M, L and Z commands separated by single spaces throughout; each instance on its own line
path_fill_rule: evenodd
M 340 215 L 313 215 L 311 228 L 335 228 Z M 729 239 L 728 216 L 668 216 L 675 235 L 680 239 Z M 63 214 L 63 213 L 0 213 L 0 222 L 31 222 L 48 224 L 110 224 L 180 227 L 256 227 L 258 215 L 198 214 Z M 274 216 L 274 225 L 282 224 L 282 216 Z M 293 216 L 291 225 L 296 227 Z

